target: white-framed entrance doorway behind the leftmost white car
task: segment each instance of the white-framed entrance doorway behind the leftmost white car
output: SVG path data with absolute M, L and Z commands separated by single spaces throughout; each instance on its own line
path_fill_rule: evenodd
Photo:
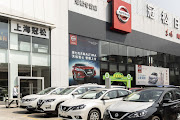
M 19 93 L 22 97 L 36 94 L 44 89 L 43 77 L 18 77 Z

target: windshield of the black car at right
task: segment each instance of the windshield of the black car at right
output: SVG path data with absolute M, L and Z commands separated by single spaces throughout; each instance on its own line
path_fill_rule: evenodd
M 157 101 L 161 94 L 162 90 L 143 90 L 135 92 L 125 97 L 124 101 L 133 101 L 133 102 L 153 102 Z

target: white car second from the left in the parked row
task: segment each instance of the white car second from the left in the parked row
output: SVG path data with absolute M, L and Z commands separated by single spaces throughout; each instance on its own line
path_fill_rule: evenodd
M 88 90 L 95 88 L 102 88 L 103 86 L 97 84 L 84 84 L 70 86 L 62 90 L 58 95 L 48 95 L 42 97 L 38 101 L 38 110 L 47 114 L 58 113 L 58 108 L 61 103 L 68 99 L 77 98 Z

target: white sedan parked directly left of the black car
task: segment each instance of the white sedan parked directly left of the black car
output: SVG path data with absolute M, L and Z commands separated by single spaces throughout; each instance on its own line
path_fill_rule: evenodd
M 59 117 L 73 120 L 100 120 L 109 105 L 122 100 L 130 93 L 131 91 L 123 88 L 90 90 L 77 99 L 62 103 Z

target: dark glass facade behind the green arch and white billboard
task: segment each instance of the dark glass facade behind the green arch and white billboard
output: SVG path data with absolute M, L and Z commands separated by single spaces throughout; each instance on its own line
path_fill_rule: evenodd
M 101 84 L 104 84 L 102 76 L 105 72 L 109 72 L 110 75 L 121 72 L 124 75 L 131 74 L 134 78 L 132 86 L 135 86 L 135 65 L 137 64 L 169 68 L 170 84 L 180 85 L 179 56 L 105 41 L 100 41 L 100 50 Z

